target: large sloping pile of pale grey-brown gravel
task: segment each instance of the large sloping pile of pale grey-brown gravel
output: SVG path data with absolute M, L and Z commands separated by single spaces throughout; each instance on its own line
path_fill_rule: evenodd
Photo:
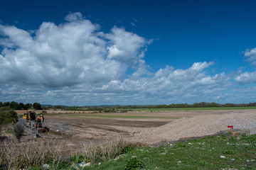
M 233 125 L 234 129 L 256 128 L 256 111 L 181 118 L 159 128 L 140 132 L 134 135 L 134 140 L 151 145 L 157 142 L 179 140 L 183 137 L 202 137 L 228 130 L 229 125 Z

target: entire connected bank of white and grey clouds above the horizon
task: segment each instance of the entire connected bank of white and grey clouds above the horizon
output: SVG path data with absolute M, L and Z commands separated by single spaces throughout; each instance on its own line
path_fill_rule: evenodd
M 43 22 L 33 33 L 0 24 L 0 101 L 193 103 L 218 100 L 230 85 L 225 73 L 208 74 L 214 62 L 149 72 L 144 57 L 152 40 L 116 26 L 104 33 L 81 13 L 65 20 L 60 25 Z

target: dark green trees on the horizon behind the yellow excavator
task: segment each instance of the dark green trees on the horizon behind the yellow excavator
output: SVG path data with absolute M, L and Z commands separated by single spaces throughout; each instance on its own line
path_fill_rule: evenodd
M 40 103 L 26 103 L 26 104 L 23 104 L 23 103 L 17 103 L 16 101 L 6 101 L 6 102 L 1 102 L 0 101 L 0 107 L 1 108 L 11 108 L 11 109 L 14 109 L 14 110 L 28 110 L 28 108 L 34 108 L 36 110 L 42 110 L 42 106 Z

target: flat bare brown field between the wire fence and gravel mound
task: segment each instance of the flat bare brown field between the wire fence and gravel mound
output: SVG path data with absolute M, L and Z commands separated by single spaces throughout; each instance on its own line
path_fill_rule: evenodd
M 146 132 L 152 128 L 159 128 L 162 125 L 166 125 L 167 123 L 177 120 L 178 118 L 191 118 L 196 115 L 250 113 L 251 111 L 130 111 L 128 113 L 93 113 L 93 115 L 92 112 L 86 111 L 82 111 L 80 113 L 74 111 L 47 112 L 55 114 L 45 115 L 46 120 L 50 119 L 73 122 L 73 136 L 55 140 L 55 142 L 58 142 L 63 146 L 63 154 L 68 155 L 71 152 L 79 151 L 83 144 L 102 143 L 115 136 L 122 136 L 127 140 L 134 141 L 134 136 L 138 135 L 140 132 Z M 74 115 L 80 115 L 73 116 L 71 113 Z M 105 117 L 101 117 L 102 115 Z M 139 116 L 139 118 L 136 118 L 136 116 Z M 143 142 L 143 140 L 140 142 Z

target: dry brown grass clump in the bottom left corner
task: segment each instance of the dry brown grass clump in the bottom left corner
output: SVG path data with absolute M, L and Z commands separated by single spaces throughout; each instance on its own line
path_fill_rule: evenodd
M 47 142 L 1 142 L 0 164 L 3 169 L 30 169 L 34 166 L 43 166 L 51 163 L 58 166 L 60 163 L 60 145 L 54 141 Z

